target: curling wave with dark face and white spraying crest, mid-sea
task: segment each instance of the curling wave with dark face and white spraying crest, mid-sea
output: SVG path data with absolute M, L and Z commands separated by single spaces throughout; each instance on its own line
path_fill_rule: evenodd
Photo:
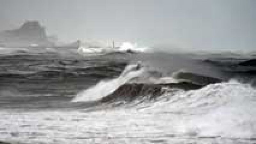
M 174 72 L 169 77 L 163 77 L 160 71 L 152 71 L 141 65 L 140 63 L 128 65 L 118 78 L 100 81 L 97 85 L 77 94 L 72 102 L 133 101 L 145 96 L 155 99 L 168 89 L 175 88 L 186 91 L 221 81 L 217 78 L 182 71 Z

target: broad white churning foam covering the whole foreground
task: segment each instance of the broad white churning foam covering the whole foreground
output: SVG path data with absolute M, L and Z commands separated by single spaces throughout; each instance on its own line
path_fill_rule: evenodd
M 127 69 L 124 75 L 131 74 Z M 231 80 L 165 96 L 169 99 L 143 110 L 0 111 L 1 131 L 5 132 L 0 139 L 26 143 L 253 142 L 256 90 L 250 85 Z

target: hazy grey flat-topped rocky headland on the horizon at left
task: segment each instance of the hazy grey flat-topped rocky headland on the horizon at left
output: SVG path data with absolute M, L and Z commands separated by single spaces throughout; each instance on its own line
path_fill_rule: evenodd
M 26 21 L 20 28 L 0 33 L 0 44 L 8 46 L 51 46 L 54 45 L 38 21 Z

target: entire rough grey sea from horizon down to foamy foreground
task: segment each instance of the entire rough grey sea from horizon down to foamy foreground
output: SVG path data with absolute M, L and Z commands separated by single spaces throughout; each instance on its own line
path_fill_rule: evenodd
M 0 53 L 0 141 L 256 142 L 255 52 Z

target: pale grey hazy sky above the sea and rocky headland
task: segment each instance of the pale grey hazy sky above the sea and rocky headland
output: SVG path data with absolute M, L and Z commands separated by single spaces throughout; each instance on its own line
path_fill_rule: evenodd
M 62 40 L 256 50 L 256 0 L 0 0 L 0 30 L 39 20 Z

